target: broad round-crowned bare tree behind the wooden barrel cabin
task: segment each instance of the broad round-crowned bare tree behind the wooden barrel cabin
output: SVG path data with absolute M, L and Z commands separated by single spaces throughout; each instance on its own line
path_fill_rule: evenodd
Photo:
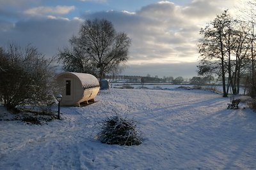
M 86 20 L 78 36 L 70 39 L 71 50 L 59 52 L 67 71 L 92 73 L 100 79 L 128 59 L 131 39 L 124 32 L 116 32 L 108 20 Z

